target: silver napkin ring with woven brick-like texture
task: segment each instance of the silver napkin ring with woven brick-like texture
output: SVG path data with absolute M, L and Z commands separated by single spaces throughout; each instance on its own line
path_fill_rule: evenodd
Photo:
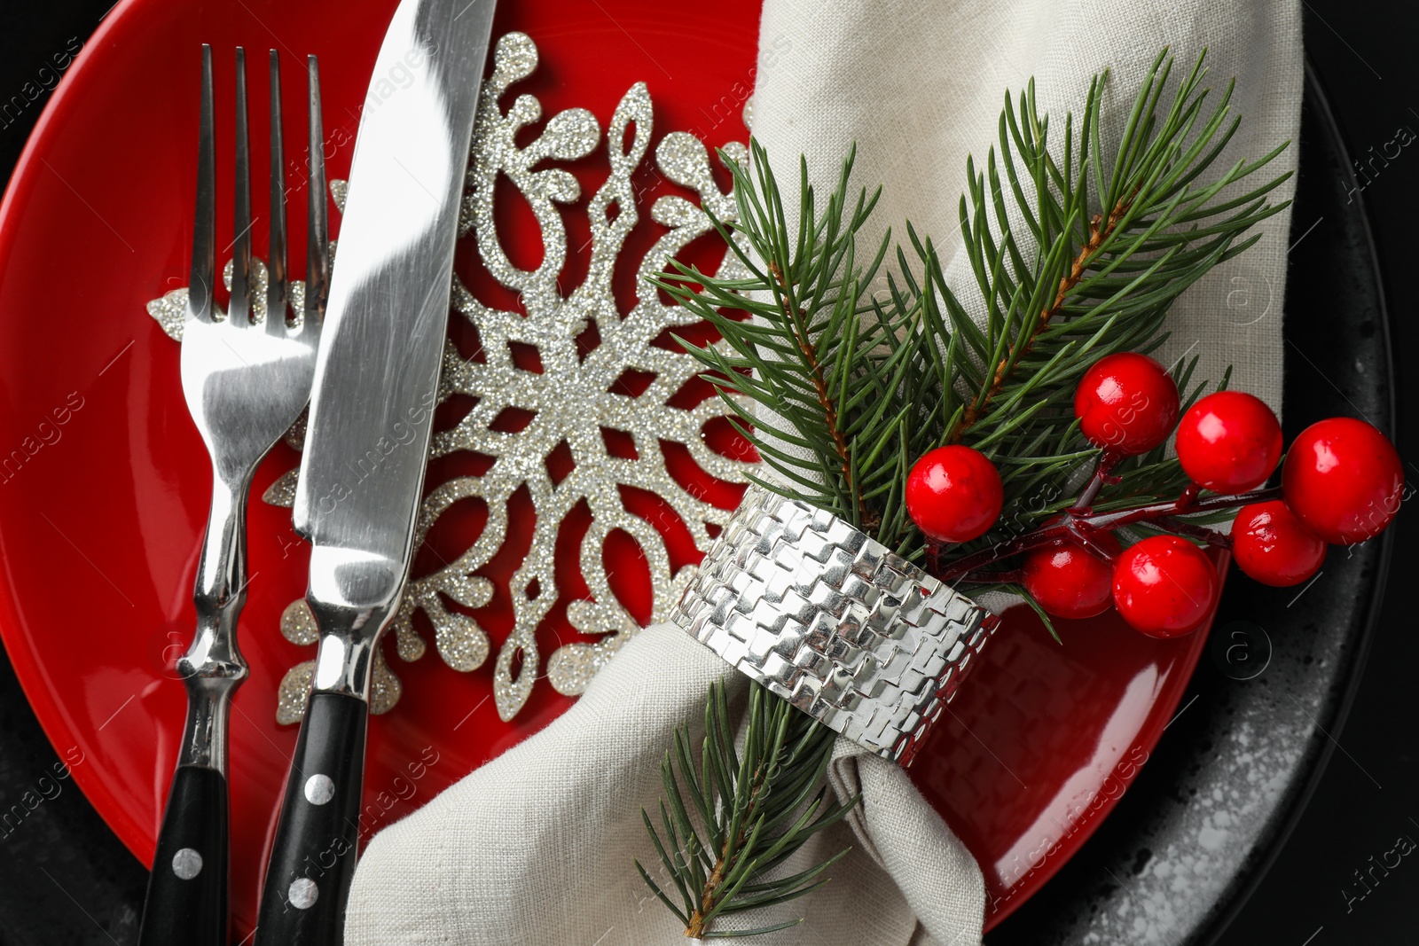
M 999 623 L 866 532 L 762 486 L 749 486 L 671 620 L 902 766 Z

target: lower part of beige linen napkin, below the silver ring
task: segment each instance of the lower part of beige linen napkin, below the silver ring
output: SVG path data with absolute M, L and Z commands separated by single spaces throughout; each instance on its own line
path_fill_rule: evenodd
M 657 811 L 674 726 L 702 716 L 705 689 L 727 669 L 678 628 L 641 631 L 551 726 L 375 837 L 355 877 L 345 942 L 685 942 L 631 858 L 660 875 L 640 810 Z M 742 679 L 735 685 L 742 692 Z M 697 745 L 701 735 L 695 728 Z M 800 858 L 856 847 L 827 886 L 765 912 L 806 916 L 800 929 L 758 942 L 908 943 L 915 912 L 931 918 L 942 943 L 952 930 L 969 930 L 956 943 L 978 942 L 981 872 L 901 769 L 873 756 L 840 760 L 836 777 L 860 783 L 857 823 L 873 841 L 839 825 L 810 842 Z

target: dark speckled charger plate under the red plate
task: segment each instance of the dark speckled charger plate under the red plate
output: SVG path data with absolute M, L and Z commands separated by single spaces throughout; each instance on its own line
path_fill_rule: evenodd
M 1388 316 L 1364 211 L 1347 206 L 1349 166 L 1307 71 L 1286 291 L 1287 438 L 1337 414 L 1393 425 Z M 1321 218 L 1331 223 L 1311 233 Z M 1271 295 L 1237 289 L 1246 318 Z M 1335 332 L 1337 319 L 1351 330 Z M 1338 733 L 1354 696 L 1388 559 L 1388 539 L 1332 552 L 1324 580 L 1294 607 L 1296 589 L 1230 581 L 1209 658 L 1148 764 L 1094 837 L 986 942 L 1213 942 L 1331 756 L 1327 733 Z M 0 816 L 33 806 L 0 818 L 0 942 L 135 942 L 146 871 L 72 781 L 54 777 L 60 757 L 4 660 L 0 746 Z

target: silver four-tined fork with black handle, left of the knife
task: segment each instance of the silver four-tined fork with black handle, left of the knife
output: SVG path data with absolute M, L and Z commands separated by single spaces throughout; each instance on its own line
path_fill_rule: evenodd
M 211 512 L 203 536 L 193 600 L 197 631 L 177 661 L 187 688 L 187 723 L 177 753 L 148 881 L 139 942 L 143 946 L 220 945 L 227 940 L 227 711 L 247 677 L 237 648 L 237 617 L 247 600 L 247 494 L 257 464 L 299 417 L 311 396 L 315 350 L 329 288 L 325 163 L 319 74 L 309 82 L 309 244 L 305 304 L 285 318 L 285 173 L 281 149 L 281 74 L 271 50 L 271 238 L 267 309 L 254 321 L 251 292 L 251 172 L 247 149 L 245 52 L 237 48 L 236 213 L 231 302 L 213 305 L 216 285 L 216 174 L 211 118 L 211 48 L 201 48 L 201 128 L 192 278 L 182 342 L 187 410 L 211 457 Z

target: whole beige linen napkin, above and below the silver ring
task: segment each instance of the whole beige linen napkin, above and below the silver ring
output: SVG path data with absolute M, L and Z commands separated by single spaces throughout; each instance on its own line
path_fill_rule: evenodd
M 965 156 L 995 142 L 1006 88 L 1034 75 L 1043 106 L 1061 119 L 1111 67 L 1104 128 L 1117 138 L 1156 51 L 1171 44 L 1191 67 L 1208 47 L 1213 85 L 1237 77 L 1233 105 L 1246 119 L 1225 166 L 1296 138 L 1300 35 L 1296 3 L 766 0 L 753 132 L 780 180 L 795 180 L 806 153 L 822 189 L 856 140 L 858 180 L 885 184 L 876 223 L 901 233 L 910 217 L 951 261 L 952 285 L 968 285 L 955 252 Z M 1293 149 L 1274 169 L 1294 163 Z M 1277 199 L 1290 194 L 1287 186 Z M 1256 247 L 1189 289 L 1162 353 L 1199 355 L 1198 377 L 1233 363 L 1235 384 L 1274 407 L 1288 218 L 1273 217 Z M 673 729 L 694 728 L 707 686 L 725 672 L 673 627 L 633 638 L 562 718 L 373 838 L 355 875 L 346 943 L 684 942 L 631 858 L 657 874 L 640 810 L 656 810 Z M 785 869 L 853 851 L 824 888 L 752 918 L 802 925 L 752 942 L 979 943 L 981 869 L 905 773 L 839 740 L 832 781 L 844 796 L 861 791 L 861 807 Z M 724 926 L 734 925 L 749 918 Z

